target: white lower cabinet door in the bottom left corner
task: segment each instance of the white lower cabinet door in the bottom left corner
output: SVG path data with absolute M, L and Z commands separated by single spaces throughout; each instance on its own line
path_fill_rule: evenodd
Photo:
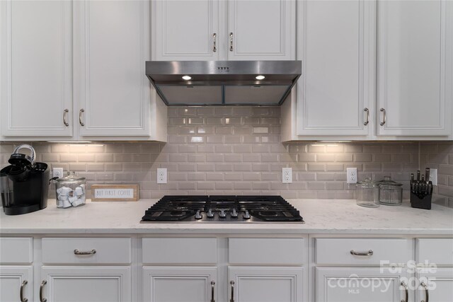
M 33 301 L 33 267 L 0 266 L 0 301 L 16 302 L 25 298 Z

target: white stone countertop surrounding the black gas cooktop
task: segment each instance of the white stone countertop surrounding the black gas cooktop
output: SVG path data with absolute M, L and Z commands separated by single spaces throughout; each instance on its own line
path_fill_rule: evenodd
M 305 223 L 139 223 L 156 199 L 139 202 L 88 202 L 83 207 L 46 209 L 18 216 L 1 211 L 0 235 L 14 234 L 413 234 L 453 236 L 453 209 L 359 207 L 355 200 L 287 199 Z

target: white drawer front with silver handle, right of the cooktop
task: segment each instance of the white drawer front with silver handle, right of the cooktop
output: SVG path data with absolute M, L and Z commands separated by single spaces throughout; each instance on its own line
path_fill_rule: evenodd
M 381 261 L 406 264 L 411 259 L 411 241 L 406 239 L 316 238 L 318 265 L 381 265 Z

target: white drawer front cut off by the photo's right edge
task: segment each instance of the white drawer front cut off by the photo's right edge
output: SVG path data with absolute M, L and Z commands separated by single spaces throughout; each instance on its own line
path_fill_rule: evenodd
M 416 246 L 417 262 L 453 265 L 453 238 L 420 238 Z

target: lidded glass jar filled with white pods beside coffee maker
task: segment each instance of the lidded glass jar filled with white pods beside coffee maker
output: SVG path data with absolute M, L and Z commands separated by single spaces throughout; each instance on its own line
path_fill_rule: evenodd
M 74 171 L 69 171 L 64 178 L 55 180 L 57 191 L 57 208 L 67 209 L 85 204 L 86 180 L 79 178 Z

